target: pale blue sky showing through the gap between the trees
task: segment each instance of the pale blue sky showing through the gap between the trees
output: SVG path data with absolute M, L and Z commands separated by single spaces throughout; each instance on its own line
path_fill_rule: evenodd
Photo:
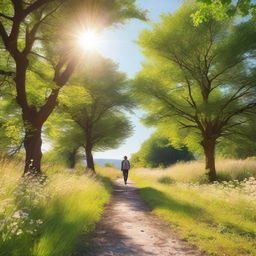
M 174 12 L 182 4 L 182 0 L 138 0 L 141 9 L 148 10 L 149 21 L 129 21 L 127 24 L 104 32 L 102 38 L 104 44 L 100 53 L 119 64 L 119 70 L 125 72 L 129 78 L 133 78 L 140 71 L 144 56 L 136 45 L 136 40 L 143 29 L 150 28 L 150 23 L 160 20 L 162 13 Z M 121 144 L 118 149 L 105 152 L 95 152 L 95 158 L 120 159 L 124 155 L 128 157 L 139 150 L 140 145 L 145 141 L 153 129 L 143 126 L 140 123 L 142 111 L 135 111 L 129 115 L 134 125 L 134 134 Z

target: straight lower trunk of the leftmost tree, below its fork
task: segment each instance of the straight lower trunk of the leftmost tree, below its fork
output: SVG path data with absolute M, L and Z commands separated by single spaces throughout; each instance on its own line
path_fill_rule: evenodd
M 24 173 L 32 175 L 41 174 L 41 158 L 42 158 L 42 125 L 30 125 L 26 127 L 24 147 L 26 151 Z

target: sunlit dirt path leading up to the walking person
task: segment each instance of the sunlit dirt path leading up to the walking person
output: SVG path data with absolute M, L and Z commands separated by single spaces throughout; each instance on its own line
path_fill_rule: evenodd
M 134 184 L 119 179 L 102 220 L 92 237 L 94 249 L 80 256 L 201 256 L 204 255 L 150 212 Z

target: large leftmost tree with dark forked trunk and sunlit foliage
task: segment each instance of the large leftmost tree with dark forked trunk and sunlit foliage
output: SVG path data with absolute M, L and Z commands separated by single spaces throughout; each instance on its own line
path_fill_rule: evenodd
M 22 111 L 25 127 L 25 172 L 33 159 L 34 171 L 41 172 L 42 126 L 57 105 L 60 89 L 70 79 L 81 52 L 74 45 L 74 25 L 97 25 L 102 29 L 129 18 L 144 18 L 134 0 L 4 0 L 1 1 L 0 35 L 1 47 L 15 63 L 16 99 Z M 72 25 L 72 28 L 69 26 Z M 81 29 L 81 28 L 80 28 Z M 7 60 L 7 59 L 6 59 Z M 41 61 L 50 68 L 37 75 L 46 78 L 45 98 L 38 106 L 28 95 L 28 72 L 33 64 Z M 9 74 L 5 71 L 5 74 Z M 1 72 L 2 72 L 1 71 Z M 33 81 L 36 82 L 36 81 Z M 33 85 L 34 86 L 34 85 Z M 32 86 L 32 87 L 33 87 Z

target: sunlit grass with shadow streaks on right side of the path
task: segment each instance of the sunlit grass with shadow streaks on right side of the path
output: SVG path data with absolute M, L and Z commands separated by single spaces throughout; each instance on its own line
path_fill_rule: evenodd
M 217 166 L 229 178 L 256 173 L 255 160 L 223 160 Z M 200 184 L 202 174 L 202 163 L 191 162 L 134 170 L 132 179 L 156 214 L 209 255 L 256 255 L 256 179 Z

